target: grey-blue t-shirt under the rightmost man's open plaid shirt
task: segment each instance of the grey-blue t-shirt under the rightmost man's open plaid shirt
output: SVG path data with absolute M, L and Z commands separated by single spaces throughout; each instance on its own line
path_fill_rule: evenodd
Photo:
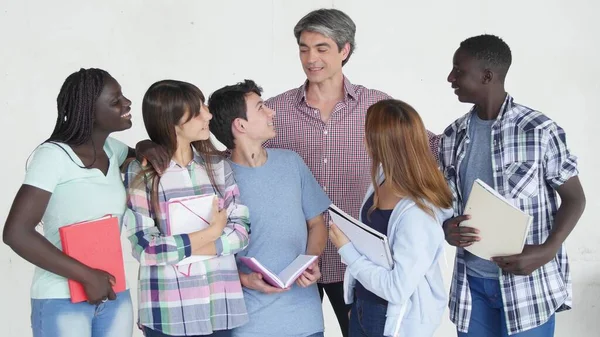
M 471 187 L 476 179 L 481 179 L 490 186 L 494 186 L 492 172 L 492 124 L 495 120 L 482 120 L 477 113 L 471 115 L 469 123 L 469 144 L 467 152 L 460 167 L 461 192 L 463 203 L 466 204 L 471 194 Z M 465 206 L 463 204 L 463 207 Z M 499 277 L 498 265 L 492 261 L 479 258 L 465 250 L 465 264 L 467 275 L 497 279 Z

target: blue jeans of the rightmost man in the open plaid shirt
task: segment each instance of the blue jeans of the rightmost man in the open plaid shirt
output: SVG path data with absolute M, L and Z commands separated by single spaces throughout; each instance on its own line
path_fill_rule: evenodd
M 473 310 L 469 322 L 468 333 L 458 333 L 458 337 L 506 337 L 506 318 L 500 282 L 494 279 L 484 279 L 468 276 Z M 531 330 L 510 337 L 552 337 L 554 336 L 554 315 L 550 319 Z

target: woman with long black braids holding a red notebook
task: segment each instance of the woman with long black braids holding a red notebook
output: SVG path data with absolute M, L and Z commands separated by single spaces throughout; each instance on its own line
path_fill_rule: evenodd
M 115 294 L 112 275 L 63 254 L 58 229 L 106 214 L 122 218 L 126 202 L 119 168 L 135 151 L 109 135 L 131 127 L 131 101 L 106 71 L 81 69 L 65 80 L 57 107 L 54 131 L 35 149 L 3 233 L 4 242 L 37 267 L 31 286 L 33 336 L 130 337 L 129 291 Z M 139 157 L 163 168 L 167 158 L 148 143 L 138 144 Z M 39 223 L 43 235 L 36 231 Z M 67 279 L 83 285 L 87 303 L 71 303 Z

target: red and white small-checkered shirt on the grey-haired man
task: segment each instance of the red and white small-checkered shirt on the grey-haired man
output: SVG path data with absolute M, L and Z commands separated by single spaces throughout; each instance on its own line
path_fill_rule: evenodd
M 354 85 L 344 77 L 344 99 L 335 105 L 325 123 L 320 111 L 306 102 L 306 84 L 267 100 L 267 106 L 276 111 L 277 136 L 265 146 L 297 152 L 331 201 L 358 219 L 371 182 L 371 161 L 363 144 L 365 115 L 372 104 L 391 97 Z M 437 156 L 438 137 L 428 133 L 429 145 Z M 343 281 L 345 266 L 329 240 L 319 267 L 323 275 L 319 282 Z

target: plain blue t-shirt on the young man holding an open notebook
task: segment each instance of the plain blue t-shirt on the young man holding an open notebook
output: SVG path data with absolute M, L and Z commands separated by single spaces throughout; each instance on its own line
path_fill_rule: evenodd
M 298 154 L 281 149 L 267 149 L 267 154 L 260 167 L 231 163 L 251 223 L 250 244 L 238 257 L 255 257 L 279 273 L 306 253 L 306 221 L 331 202 Z M 238 267 L 251 272 L 242 263 Z M 236 337 L 304 337 L 324 329 L 316 284 L 294 284 L 287 292 L 268 295 L 244 288 L 244 299 L 250 322 L 233 330 Z

